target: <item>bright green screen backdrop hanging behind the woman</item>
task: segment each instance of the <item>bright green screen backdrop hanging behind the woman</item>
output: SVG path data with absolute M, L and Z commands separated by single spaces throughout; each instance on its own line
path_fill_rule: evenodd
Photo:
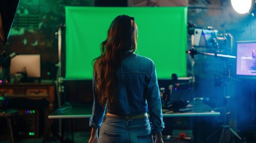
M 135 18 L 136 53 L 155 62 L 158 79 L 187 76 L 187 7 L 66 7 L 66 79 L 92 79 L 91 61 L 121 14 Z

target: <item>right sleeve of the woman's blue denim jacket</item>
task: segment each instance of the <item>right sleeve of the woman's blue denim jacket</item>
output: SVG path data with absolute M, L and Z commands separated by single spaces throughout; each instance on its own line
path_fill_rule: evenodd
M 152 74 L 149 77 L 145 94 L 153 133 L 161 132 L 164 130 L 165 125 L 163 122 L 161 96 L 154 63 L 152 63 Z

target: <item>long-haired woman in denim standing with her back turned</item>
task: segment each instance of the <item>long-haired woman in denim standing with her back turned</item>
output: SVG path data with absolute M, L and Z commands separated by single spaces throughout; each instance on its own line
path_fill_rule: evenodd
M 153 133 L 155 142 L 163 142 L 155 65 L 135 54 L 136 48 L 134 18 L 119 15 L 112 21 L 107 39 L 101 43 L 101 55 L 94 62 L 90 143 L 153 142 Z

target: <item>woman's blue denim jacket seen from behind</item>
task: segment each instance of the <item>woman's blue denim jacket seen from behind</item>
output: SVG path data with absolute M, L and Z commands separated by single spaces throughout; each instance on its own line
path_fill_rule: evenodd
M 105 111 L 121 116 L 133 116 L 149 113 L 153 132 L 164 129 L 161 97 L 152 60 L 132 53 L 121 62 L 118 71 L 119 104 L 107 104 L 102 107 L 95 96 L 95 80 L 92 80 L 94 103 L 90 126 L 100 128 Z

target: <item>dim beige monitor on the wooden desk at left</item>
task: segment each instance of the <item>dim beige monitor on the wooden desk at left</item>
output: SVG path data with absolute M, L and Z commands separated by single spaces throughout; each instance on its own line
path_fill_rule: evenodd
M 41 55 L 16 55 L 11 59 L 10 76 L 26 70 L 27 77 L 41 77 Z

